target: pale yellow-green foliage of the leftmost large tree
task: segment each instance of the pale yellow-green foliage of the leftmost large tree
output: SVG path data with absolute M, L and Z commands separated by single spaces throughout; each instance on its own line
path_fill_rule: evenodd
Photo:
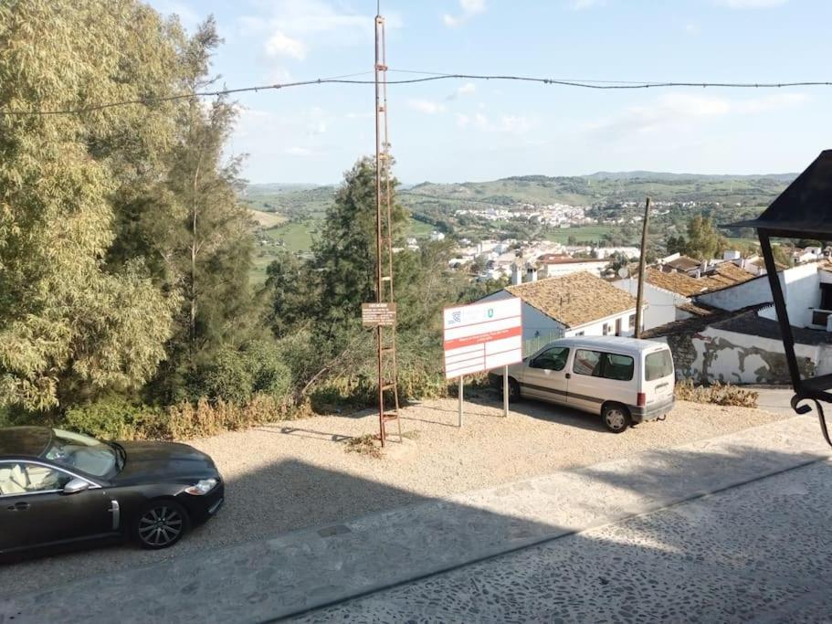
M 168 95 L 183 42 L 129 0 L 0 5 L 0 108 Z M 172 110 L 0 118 L 0 403 L 43 409 L 139 386 L 163 359 L 175 293 L 155 288 L 141 259 L 108 270 L 104 256 L 122 167 L 163 153 Z

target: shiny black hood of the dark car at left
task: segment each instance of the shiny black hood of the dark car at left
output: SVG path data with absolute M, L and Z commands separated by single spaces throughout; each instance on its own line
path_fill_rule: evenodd
M 193 481 L 219 477 L 214 460 L 175 442 L 119 442 L 127 453 L 124 468 L 111 481 L 120 485 L 147 481 Z

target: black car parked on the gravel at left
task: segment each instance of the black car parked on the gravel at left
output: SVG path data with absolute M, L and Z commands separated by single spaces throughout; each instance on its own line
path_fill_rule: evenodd
M 210 457 L 172 442 L 0 428 L 0 555 L 108 538 L 174 545 L 223 503 Z

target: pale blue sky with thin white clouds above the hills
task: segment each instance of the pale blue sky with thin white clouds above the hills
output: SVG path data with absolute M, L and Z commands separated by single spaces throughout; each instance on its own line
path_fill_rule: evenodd
M 191 32 L 214 15 L 228 88 L 367 72 L 375 0 L 150 0 Z M 389 79 L 832 81 L 829 0 L 382 0 Z M 374 153 L 372 85 L 241 94 L 229 153 L 252 183 L 332 184 Z M 832 148 L 832 87 L 599 91 L 439 80 L 388 88 L 407 183 L 650 170 L 802 171 Z

